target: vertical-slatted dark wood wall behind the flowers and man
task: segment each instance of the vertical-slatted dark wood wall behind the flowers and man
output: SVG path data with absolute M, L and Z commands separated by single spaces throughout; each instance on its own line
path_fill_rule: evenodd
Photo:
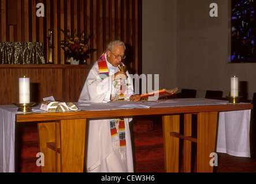
M 43 43 L 44 58 L 48 53 L 48 29 L 53 30 L 54 63 L 64 64 L 60 31 L 93 32 L 90 44 L 97 48 L 90 63 L 106 50 L 111 40 L 127 45 L 125 64 L 141 74 L 142 60 L 142 0 L 16 0 L 17 25 L 8 25 L 7 1 L 0 0 L 0 41 L 29 41 Z M 44 16 L 36 16 L 36 5 L 43 3 Z

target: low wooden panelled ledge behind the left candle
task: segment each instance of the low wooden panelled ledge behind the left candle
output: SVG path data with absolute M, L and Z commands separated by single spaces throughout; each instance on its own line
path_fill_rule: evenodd
M 31 102 L 40 103 L 44 97 L 77 102 L 90 66 L 71 65 L 0 65 L 0 105 L 18 102 L 18 78 L 30 79 Z

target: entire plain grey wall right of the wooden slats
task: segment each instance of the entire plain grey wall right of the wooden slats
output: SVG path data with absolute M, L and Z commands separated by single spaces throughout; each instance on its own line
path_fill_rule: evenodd
M 160 88 L 230 91 L 230 77 L 256 92 L 256 63 L 228 63 L 231 0 L 215 0 L 218 17 L 210 17 L 210 0 L 143 0 L 143 73 L 159 74 Z M 176 43 L 175 43 L 176 42 Z M 169 59 L 168 59 L 169 58 Z

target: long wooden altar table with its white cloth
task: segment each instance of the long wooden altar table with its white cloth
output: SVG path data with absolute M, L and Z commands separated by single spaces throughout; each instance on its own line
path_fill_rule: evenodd
M 84 155 L 86 155 L 84 144 L 87 141 L 86 120 L 116 117 L 116 114 L 120 114 L 118 115 L 120 117 L 151 114 L 162 116 L 166 172 L 179 170 L 179 139 L 184 139 L 186 148 L 184 162 L 188 164 L 185 171 L 190 171 L 191 141 L 197 144 L 197 154 L 200 158 L 197 160 L 198 172 L 213 171 L 213 167 L 209 164 L 212 159 L 210 154 L 213 152 L 250 157 L 249 131 L 252 104 L 229 104 L 228 101 L 205 98 L 74 104 L 79 107 L 76 112 L 64 113 L 43 112 L 39 110 L 39 106 L 35 106 L 32 108 L 32 113 L 24 114 L 17 112 L 17 107 L 14 105 L 0 106 L 0 144 L 2 144 L 0 172 L 15 172 L 15 156 L 17 156 L 14 154 L 15 132 L 18 124 L 23 122 L 34 122 L 43 128 L 47 126 L 54 128 L 50 135 L 53 140 L 47 141 L 47 137 L 40 139 L 40 150 L 46 151 L 46 157 L 47 154 L 51 154 L 54 159 L 50 168 L 43 167 L 44 171 L 49 172 L 47 169 L 50 169 L 54 172 L 83 172 Z M 198 116 L 197 137 L 191 137 L 191 114 Z M 184 135 L 179 132 L 180 116 L 184 116 Z M 46 142 L 41 144 L 45 140 Z M 49 163 L 50 160 L 47 162 Z

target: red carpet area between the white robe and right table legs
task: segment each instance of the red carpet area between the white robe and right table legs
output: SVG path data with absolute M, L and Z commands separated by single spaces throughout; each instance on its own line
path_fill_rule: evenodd
M 165 171 L 161 124 L 151 120 L 135 120 L 133 122 L 133 141 L 136 173 L 162 173 Z

